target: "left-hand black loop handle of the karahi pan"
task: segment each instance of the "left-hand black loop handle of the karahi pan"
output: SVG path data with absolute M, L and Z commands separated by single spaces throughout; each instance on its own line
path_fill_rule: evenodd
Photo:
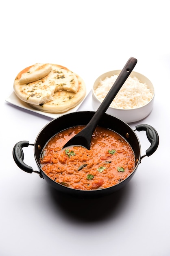
M 38 173 L 39 176 L 42 178 L 42 175 L 39 171 L 34 171 L 31 166 L 28 166 L 24 163 L 24 152 L 22 148 L 28 147 L 29 145 L 34 146 L 34 144 L 30 144 L 29 141 L 19 141 L 15 146 L 13 147 L 13 159 L 15 161 L 15 164 L 22 170 L 27 173 Z

